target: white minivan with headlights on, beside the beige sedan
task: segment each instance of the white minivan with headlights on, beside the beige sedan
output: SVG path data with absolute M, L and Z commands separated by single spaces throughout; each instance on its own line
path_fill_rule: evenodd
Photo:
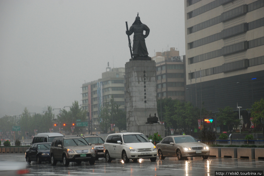
M 149 158 L 154 162 L 157 159 L 157 149 L 142 133 L 114 133 L 109 134 L 104 143 L 105 158 L 107 162 L 121 158 L 124 163 L 130 159 L 133 162 L 140 158 Z

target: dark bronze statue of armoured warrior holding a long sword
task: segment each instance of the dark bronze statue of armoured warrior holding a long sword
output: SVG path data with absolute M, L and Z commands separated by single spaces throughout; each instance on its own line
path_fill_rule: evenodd
M 145 35 L 143 32 L 145 31 Z M 126 30 L 126 34 L 129 36 L 134 33 L 133 37 L 133 58 L 144 57 L 150 58 L 148 56 L 148 50 L 145 43 L 145 38 L 148 37 L 149 28 L 147 25 L 141 23 L 140 17 L 137 16 L 135 22 Z M 128 38 L 129 39 L 129 38 Z M 130 42 L 130 41 L 129 41 Z

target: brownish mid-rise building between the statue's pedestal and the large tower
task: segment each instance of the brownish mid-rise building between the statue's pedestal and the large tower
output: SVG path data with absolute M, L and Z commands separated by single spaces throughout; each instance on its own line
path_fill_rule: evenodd
M 157 98 L 185 100 L 185 66 L 179 51 L 156 52 L 152 57 L 156 62 Z

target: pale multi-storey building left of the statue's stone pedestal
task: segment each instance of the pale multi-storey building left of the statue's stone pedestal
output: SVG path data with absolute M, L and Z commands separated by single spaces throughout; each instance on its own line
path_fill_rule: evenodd
M 82 108 L 87 110 L 94 127 L 100 128 L 100 107 L 109 103 L 111 96 L 120 110 L 125 110 L 125 68 L 106 68 L 102 78 L 82 84 Z

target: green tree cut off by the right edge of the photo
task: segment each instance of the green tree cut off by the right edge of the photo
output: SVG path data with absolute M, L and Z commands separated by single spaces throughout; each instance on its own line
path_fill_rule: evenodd
M 260 99 L 260 101 L 254 102 L 252 105 L 252 113 L 251 117 L 253 117 L 252 122 L 256 125 L 261 125 L 262 134 L 264 139 L 264 99 Z

